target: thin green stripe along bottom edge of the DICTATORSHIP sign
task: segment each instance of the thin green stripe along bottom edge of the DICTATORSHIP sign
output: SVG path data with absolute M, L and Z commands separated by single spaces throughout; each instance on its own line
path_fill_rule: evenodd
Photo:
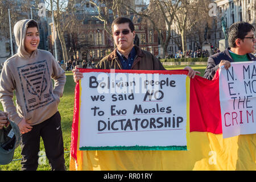
M 187 146 L 114 146 L 81 147 L 79 150 L 187 150 Z

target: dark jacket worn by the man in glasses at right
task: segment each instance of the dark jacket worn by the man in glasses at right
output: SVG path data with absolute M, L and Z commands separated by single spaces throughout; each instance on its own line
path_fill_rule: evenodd
M 207 78 L 208 80 L 212 80 L 212 78 L 214 77 L 218 69 L 218 64 L 220 64 L 221 60 L 227 60 L 227 61 L 230 61 L 231 63 L 234 62 L 234 60 L 230 56 L 229 49 L 230 48 L 226 48 L 225 51 L 216 53 L 208 58 L 207 68 L 205 69 L 205 72 L 204 72 L 205 78 Z M 247 56 L 250 59 L 250 61 L 256 61 L 255 56 L 252 55 L 251 53 L 247 53 Z

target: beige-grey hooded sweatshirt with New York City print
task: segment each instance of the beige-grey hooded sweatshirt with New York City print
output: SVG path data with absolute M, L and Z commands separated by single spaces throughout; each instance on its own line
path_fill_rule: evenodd
M 16 124 L 24 117 L 27 123 L 36 125 L 57 112 L 66 77 L 50 52 L 36 49 L 30 55 L 26 51 L 24 40 L 30 21 L 20 20 L 14 26 L 18 52 L 3 65 L 0 101 L 3 109 Z M 52 79 L 55 83 L 54 89 Z M 13 102 L 14 90 L 16 107 Z

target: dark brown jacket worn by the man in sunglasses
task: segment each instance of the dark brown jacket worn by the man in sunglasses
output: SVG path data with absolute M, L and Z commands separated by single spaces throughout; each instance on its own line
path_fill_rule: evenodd
M 162 63 L 152 53 L 135 46 L 137 55 L 131 69 L 137 70 L 165 70 Z M 117 49 L 105 56 L 97 65 L 97 69 L 122 69 L 122 64 L 117 56 Z

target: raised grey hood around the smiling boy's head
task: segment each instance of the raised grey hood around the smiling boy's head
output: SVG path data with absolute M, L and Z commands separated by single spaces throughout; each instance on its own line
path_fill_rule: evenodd
M 15 40 L 16 40 L 16 44 L 18 46 L 18 56 L 19 57 L 23 57 L 24 59 L 27 59 L 29 57 L 35 56 L 36 53 L 38 52 L 38 50 L 36 49 L 36 51 L 34 51 L 32 53 L 32 55 L 30 55 L 30 53 L 28 53 L 25 49 L 25 38 L 26 38 L 26 32 L 27 32 L 27 24 L 28 22 L 31 22 L 35 20 L 33 19 L 23 19 L 20 20 L 19 22 L 15 23 L 14 25 L 14 36 L 15 36 Z M 36 22 L 37 26 L 38 23 Z M 39 27 L 38 27 L 39 30 Z

